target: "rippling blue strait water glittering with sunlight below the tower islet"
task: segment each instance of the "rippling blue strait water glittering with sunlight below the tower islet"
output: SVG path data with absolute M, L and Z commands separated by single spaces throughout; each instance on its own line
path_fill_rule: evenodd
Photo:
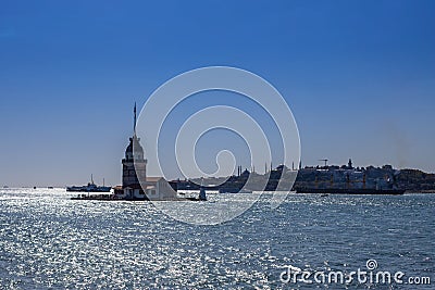
M 176 222 L 149 202 L 70 197 L 0 190 L 0 289 L 435 289 L 435 194 L 289 194 L 276 210 L 260 200 L 215 226 Z M 405 273 L 406 282 L 282 275 L 348 275 L 368 270 L 368 260 L 376 270 Z M 411 286 L 409 277 L 432 285 Z

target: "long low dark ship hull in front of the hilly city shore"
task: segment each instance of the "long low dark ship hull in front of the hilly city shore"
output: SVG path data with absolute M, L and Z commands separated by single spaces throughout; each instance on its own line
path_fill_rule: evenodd
M 405 189 L 373 189 L 373 188 L 298 188 L 296 193 L 321 194 L 393 194 L 401 196 Z

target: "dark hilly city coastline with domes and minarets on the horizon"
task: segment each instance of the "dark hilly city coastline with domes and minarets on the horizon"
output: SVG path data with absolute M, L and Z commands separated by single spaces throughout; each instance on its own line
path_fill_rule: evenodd
M 301 166 L 300 166 L 301 167 Z M 247 184 L 250 179 L 249 185 Z M 266 178 L 266 181 L 264 180 Z M 281 181 L 279 181 L 281 179 Z M 200 178 L 172 180 L 175 190 L 199 190 Z M 295 181 L 293 184 L 293 181 Z M 289 191 L 300 193 L 356 193 L 402 194 L 403 192 L 435 192 L 435 174 L 419 169 L 396 169 L 391 165 L 382 167 L 353 167 L 347 165 L 306 166 L 289 169 L 277 166 L 264 174 L 239 168 L 237 175 L 221 178 L 203 178 L 208 190 L 236 193 L 251 191 Z M 260 185 L 264 185 L 260 186 Z M 291 186 L 293 184 L 293 186 Z

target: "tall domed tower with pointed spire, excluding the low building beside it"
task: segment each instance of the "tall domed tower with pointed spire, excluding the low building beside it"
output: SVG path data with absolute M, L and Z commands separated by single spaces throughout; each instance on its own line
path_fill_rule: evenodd
M 140 181 L 145 184 L 147 180 L 147 160 L 144 157 L 144 148 L 140 146 L 140 138 L 136 136 L 136 103 L 133 113 L 133 137 L 129 138 L 129 144 L 125 149 L 125 156 L 122 160 L 122 186 L 123 188 L 128 187 L 142 191 Z

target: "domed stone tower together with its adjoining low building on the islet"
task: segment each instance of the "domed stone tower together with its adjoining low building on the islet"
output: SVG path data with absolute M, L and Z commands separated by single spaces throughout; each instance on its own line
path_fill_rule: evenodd
M 176 191 L 163 177 L 147 177 L 148 162 L 136 135 L 136 122 L 135 103 L 133 137 L 122 160 L 122 186 L 114 188 L 115 196 L 126 200 L 176 200 Z

